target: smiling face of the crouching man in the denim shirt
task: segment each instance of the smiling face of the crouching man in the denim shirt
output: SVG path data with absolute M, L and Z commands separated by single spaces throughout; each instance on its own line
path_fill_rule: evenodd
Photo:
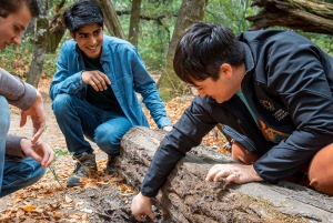
M 88 58 L 94 59 L 100 57 L 103 43 L 103 27 L 88 24 L 74 34 L 70 34 Z

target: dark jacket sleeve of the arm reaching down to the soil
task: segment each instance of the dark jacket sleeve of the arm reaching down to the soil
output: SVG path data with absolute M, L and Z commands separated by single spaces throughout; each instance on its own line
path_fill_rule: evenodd
M 204 100 L 196 97 L 163 139 L 141 184 L 143 195 L 155 196 L 178 161 L 215 126 L 216 122 L 202 107 Z

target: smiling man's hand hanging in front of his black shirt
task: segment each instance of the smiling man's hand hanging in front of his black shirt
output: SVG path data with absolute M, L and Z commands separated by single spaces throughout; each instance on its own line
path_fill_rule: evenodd
M 109 78 L 100 71 L 84 71 L 81 74 L 83 83 L 90 84 L 95 91 L 104 91 L 111 84 Z

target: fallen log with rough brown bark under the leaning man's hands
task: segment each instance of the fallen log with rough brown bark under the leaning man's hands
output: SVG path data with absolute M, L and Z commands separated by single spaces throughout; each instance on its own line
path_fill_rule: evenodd
M 115 163 L 127 183 L 139 189 L 165 132 L 132 128 Z M 205 146 L 194 148 L 169 175 L 154 205 L 173 222 L 333 222 L 333 197 L 287 182 L 230 184 L 205 182 L 215 163 L 234 162 Z

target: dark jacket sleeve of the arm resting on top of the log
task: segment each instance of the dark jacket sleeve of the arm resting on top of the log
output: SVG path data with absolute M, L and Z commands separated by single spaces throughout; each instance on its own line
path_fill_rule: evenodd
M 327 68 L 323 67 L 333 60 L 301 37 L 287 39 L 276 41 L 265 52 L 269 88 L 283 101 L 295 125 L 286 140 L 254 163 L 259 175 L 272 183 L 295 173 L 333 142 L 333 99 L 327 81 L 333 70 L 325 73 Z

